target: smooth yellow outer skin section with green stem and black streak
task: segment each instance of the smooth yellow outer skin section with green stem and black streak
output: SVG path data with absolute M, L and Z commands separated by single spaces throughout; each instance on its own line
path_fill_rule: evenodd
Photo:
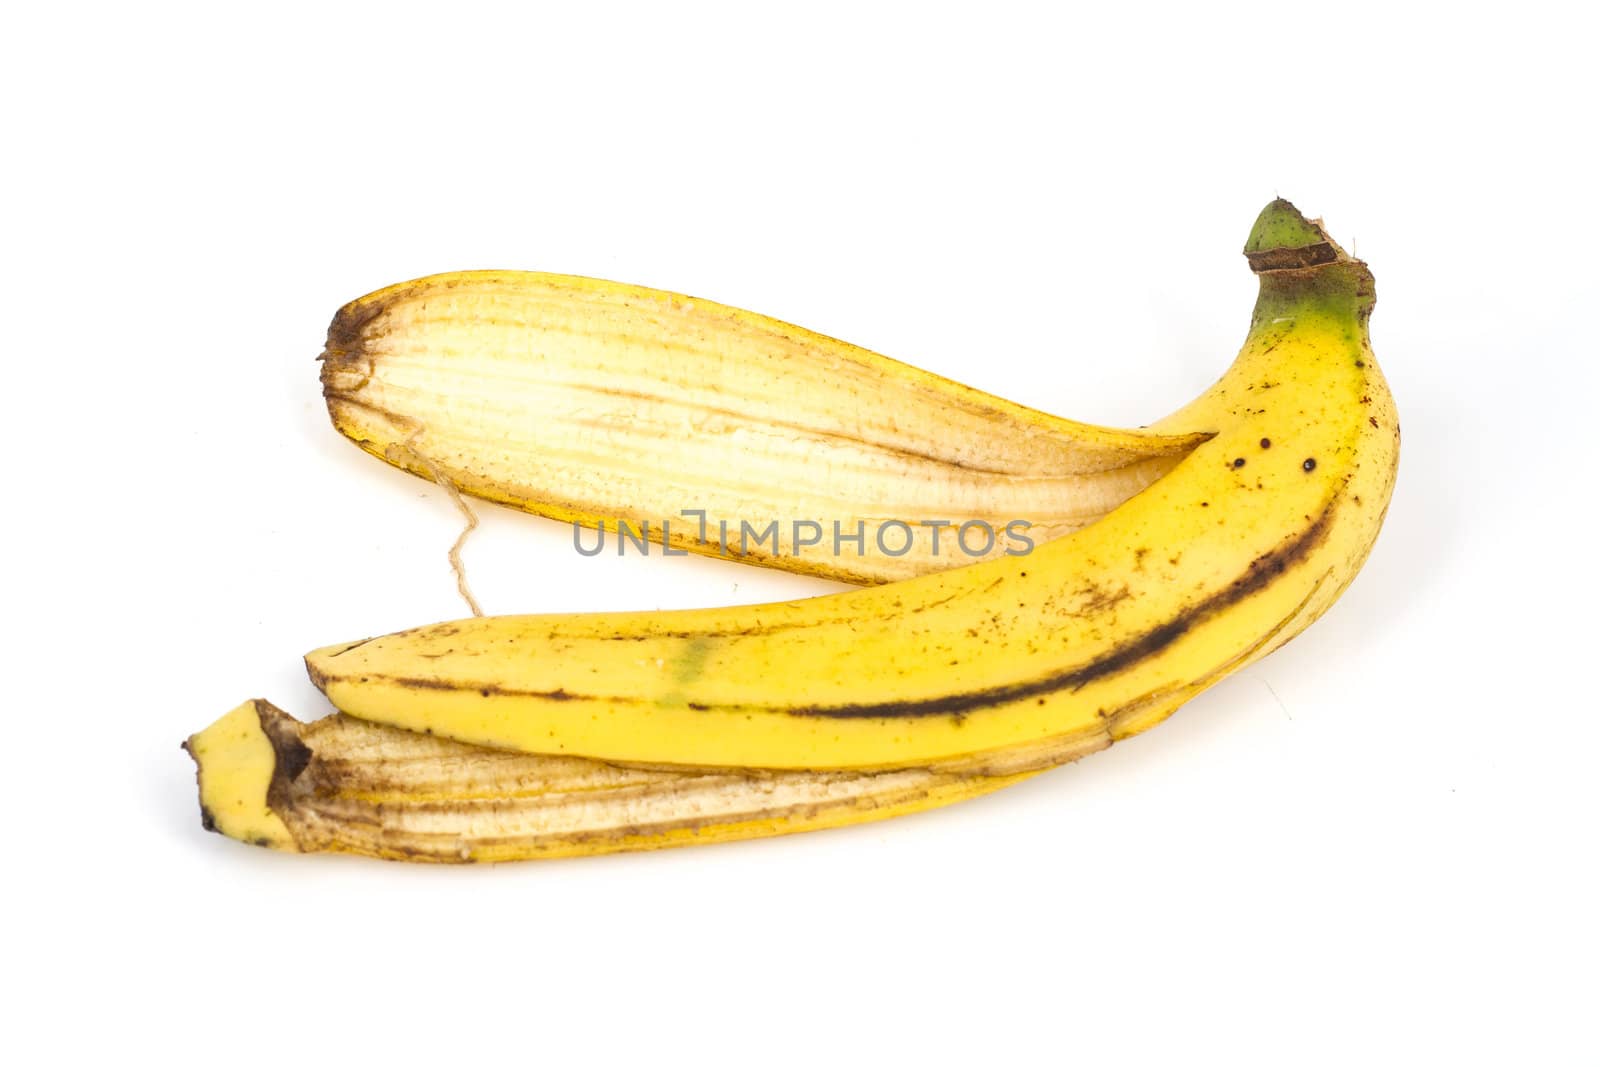
M 307 669 L 371 721 L 653 765 L 1014 773 L 1138 733 L 1325 611 L 1394 486 L 1366 267 L 1286 202 L 1246 248 L 1238 358 L 1152 427 L 1208 440 L 1030 555 L 754 608 L 464 619 Z

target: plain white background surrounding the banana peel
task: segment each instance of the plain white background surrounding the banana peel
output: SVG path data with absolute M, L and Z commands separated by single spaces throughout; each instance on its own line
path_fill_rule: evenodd
M 29 5 L 5 99 L 0 1041 L 163 1062 L 1597 1062 L 1595 80 L 1403 5 Z M 1160 729 L 850 830 L 416 869 L 200 830 L 178 742 L 462 613 L 323 330 L 526 267 L 1112 424 L 1206 387 L 1274 195 L 1378 277 L 1405 443 L 1310 632 Z M 480 509 L 490 611 L 826 584 Z M 293 1057 L 293 1059 L 291 1059 Z

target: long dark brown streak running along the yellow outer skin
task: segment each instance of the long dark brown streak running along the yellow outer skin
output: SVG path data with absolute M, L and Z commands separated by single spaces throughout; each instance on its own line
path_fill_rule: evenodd
M 966 693 L 952 693 L 949 696 L 930 697 L 922 701 L 883 701 L 874 704 L 834 704 L 834 705 L 818 705 L 818 707 L 763 707 L 766 712 L 782 712 L 786 715 L 802 717 L 802 718 L 926 718 L 934 715 L 950 715 L 954 718 L 965 717 L 971 712 L 995 707 L 1000 704 L 1011 704 L 1018 701 L 1029 701 L 1034 697 L 1043 697 L 1062 691 L 1077 691 L 1091 681 L 1110 677 L 1128 670 L 1130 667 L 1150 659 L 1166 649 L 1170 645 L 1178 641 L 1184 633 L 1192 630 L 1195 625 L 1227 611 L 1234 605 L 1246 600 L 1267 589 L 1274 581 L 1290 573 L 1293 568 L 1301 565 L 1310 553 L 1323 542 L 1328 536 L 1328 530 L 1333 526 L 1333 517 L 1338 504 L 1328 504 L 1323 512 L 1310 522 L 1306 530 L 1290 539 L 1286 544 L 1266 552 L 1250 561 L 1246 571 L 1234 579 L 1227 587 L 1219 592 L 1200 600 L 1190 608 L 1181 611 L 1178 616 L 1157 625 L 1144 633 L 1118 645 L 1104 656 L 1093 659 L 1080 667 L 1070 670 L 1045 675 L 1043 678 L 1035 678 L 1032 681 L 1019 681 L 1011 685 L 989 686 L 984 689 L 971 689 Z M 330 678 L 317 670 L 310 662 L 307 662 L 307 670 L 310 673 L 312 683 L 320 689 L 326 689 Z M 419 688 L 419 689 L 491 689 L 506 696 L 523 696 L 523 697 L 547 697 L 546 693 L 510 689 L 498 685 L 480 685 L 470 681 L 442 681 L 437 678 L 405 678 L 384 675 L 382 681 L 403 688 Z M 562 696 L 554 697 L 560 701 L 606 701 L 614 697 L 602 697 L 594 694 L 568 693 L 566 689 L 557 689 Z M 728 705 L 728 704 L 704 704 L 696 702 L 688 705 L 696 712 L 722 712 L 722 713 L 747 713 L 750 709 L 747 705 Z

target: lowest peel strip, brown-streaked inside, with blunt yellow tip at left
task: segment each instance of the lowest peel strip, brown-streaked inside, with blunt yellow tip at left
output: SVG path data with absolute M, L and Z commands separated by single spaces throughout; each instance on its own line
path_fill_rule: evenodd
M 245 701 L 184 745 L 206 829 L 291 853 L 421 862 L 552 859 L 821 830 L 934 808 L 1026 777 L 685 773 L 493 752 Z

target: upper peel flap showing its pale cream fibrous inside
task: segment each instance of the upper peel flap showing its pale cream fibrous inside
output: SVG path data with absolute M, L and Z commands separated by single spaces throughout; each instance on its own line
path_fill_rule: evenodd
M 851 584 L 1080 530 L 1203 440 L 1058 419 L 763 315 L 554 274 L 363 296 L 322 358 L 339 432 L 424 478 Z

